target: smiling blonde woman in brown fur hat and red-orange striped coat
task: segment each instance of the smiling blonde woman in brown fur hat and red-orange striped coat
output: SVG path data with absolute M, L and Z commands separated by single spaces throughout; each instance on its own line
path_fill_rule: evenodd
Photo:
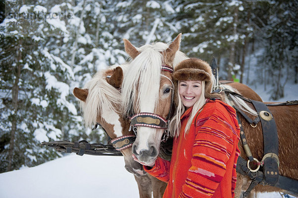
M 171 161 L 157 158 L 144 166 L 168 183 L 163 198 L 233 198 L 239 156 L 235 110 L 212 94 L 212 70 L 204 61 L 187 59 L 175 67 L 176 115 Z M 178 91 L 177 91 L 178 90 Z

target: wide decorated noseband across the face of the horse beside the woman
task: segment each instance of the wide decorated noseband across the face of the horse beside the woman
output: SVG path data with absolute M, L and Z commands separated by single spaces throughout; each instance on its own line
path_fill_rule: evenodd
M 152 113 L 139 113 L 131 118 L 132 127 L 151 127 L 157 129 L 167 129 L 168 121 Z

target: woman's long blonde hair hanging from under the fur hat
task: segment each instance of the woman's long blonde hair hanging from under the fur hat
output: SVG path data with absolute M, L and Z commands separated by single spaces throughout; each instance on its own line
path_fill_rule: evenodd
M 178 84 L 179 84 L 179 81 L 178 81 Z M 177 97 L 178 97 L 178 107 L 176 108 L 176 113 L 173 116 L 173 118 L 171 119 L 170 126 L 169 126 L 171 136 L 176 136 L 176 137 L 179 135 L 180 129 L 181 129 L 180 118 L 186 110 L 185 106 L 182 104 L 182 100 L 181 100 L 181 97 L 179 94 L 179 88 L 177 88 Z M 184 136 L 186 133 L 188 133 L 190 126 L 193 124 L 193 122 L 195 122 L 194 118 L 195 118 L 196 114 L 198 113 L 198 111 L 205 105 L 205 102 L 206 102 L 205 81 L 202 81 L 201 95 L 200 95 L 198 101 L 193 106 L 191 115 L 186 123 Z

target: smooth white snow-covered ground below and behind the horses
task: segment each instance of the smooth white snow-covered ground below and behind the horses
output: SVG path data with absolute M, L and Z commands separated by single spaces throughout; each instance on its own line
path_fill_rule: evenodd
M 251 88 L 269 101 L 262 87 Z M 297 90 L 298 85 L 289 85 L 286 97 L 279 101 L 298 99 Z M 36 167 L 0 174 L 0 198 L 95 197 L 139 198 L 137 183 L 125 170 L 123 157 L 69 154 Z M 278 193 L 258 195 L 258 198 L 281 197 Z

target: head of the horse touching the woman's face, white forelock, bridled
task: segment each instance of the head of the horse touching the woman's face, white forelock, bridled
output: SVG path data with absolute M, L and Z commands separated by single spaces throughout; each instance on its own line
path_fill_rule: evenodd
M 174 91 L 173 65 L 186 59 L 178 51 L 180 41 L 181 34 L 169 45 L 158 42 L 136 48 L 124 39 L 125 51 L 133 60 L 124 75 L 121 106 L 137 134 L 133 154 L 145 164 L 155 161 L 167 132 Z

